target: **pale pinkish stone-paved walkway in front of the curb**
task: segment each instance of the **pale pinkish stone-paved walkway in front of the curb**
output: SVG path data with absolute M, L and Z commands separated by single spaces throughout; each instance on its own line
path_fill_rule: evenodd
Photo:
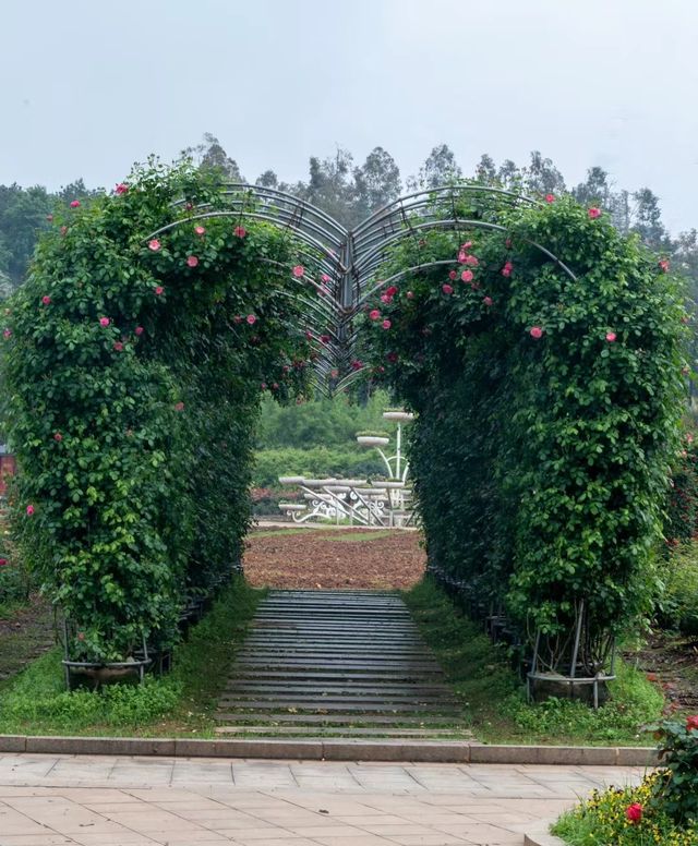
M 0 846 L 520 846 L 629 768 L 0 757 Z

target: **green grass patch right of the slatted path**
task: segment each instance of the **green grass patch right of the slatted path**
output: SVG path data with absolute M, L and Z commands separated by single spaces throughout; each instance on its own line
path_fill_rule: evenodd
M 642 673 L 616 662 L 611 698 L 598 711 L 561 699 L 531 704 L 512 669 L 507 649 L 492 643 L 432 579 L 423 579 L 404 597 L 462 700 L 478 739 L 493 744 L 652 745 L 642 726 L 660 716 L 664 698 Z

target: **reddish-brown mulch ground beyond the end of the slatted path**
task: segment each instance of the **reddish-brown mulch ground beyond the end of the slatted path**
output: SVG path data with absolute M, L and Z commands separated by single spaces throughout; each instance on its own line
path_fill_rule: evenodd
M 410 588 L 426 564 L 420 542 L 399 530 L 261 528 L 248 537 L 244 572 L 255 587 Z

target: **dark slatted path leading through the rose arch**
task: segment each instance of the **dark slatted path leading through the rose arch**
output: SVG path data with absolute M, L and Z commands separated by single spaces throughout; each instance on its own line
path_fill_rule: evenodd
M 272 591 L 220 699 L 218 733 L 458 736 L 462 709 L 396 593 Z

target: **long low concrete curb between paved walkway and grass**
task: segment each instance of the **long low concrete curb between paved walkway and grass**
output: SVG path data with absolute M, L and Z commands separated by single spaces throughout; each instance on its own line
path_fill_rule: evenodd
M 454 740 L 336 740 L 260 738 L 51 737 L 0 735 L 0 753 L 266 758 L 304 761 L 404 761 L 461 764 L 655 766 L 655 749 L 591 746 L 485 746 Z

